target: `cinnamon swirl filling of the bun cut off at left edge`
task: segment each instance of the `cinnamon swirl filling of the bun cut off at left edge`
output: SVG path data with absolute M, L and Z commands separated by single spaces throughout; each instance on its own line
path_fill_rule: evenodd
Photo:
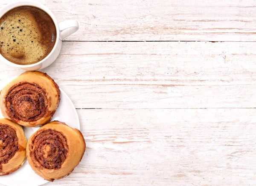
M 0 171 L 2 164 L 8 163 L 19 150 L 19 142 L 15 129 L 0 123 Z

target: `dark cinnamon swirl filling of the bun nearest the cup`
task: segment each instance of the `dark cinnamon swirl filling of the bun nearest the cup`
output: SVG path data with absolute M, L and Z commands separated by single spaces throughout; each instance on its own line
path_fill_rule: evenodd
M 48 111 L 47 106 L 46 92 L 35 83 L 20 82 L 6 96 L 7 114 L 16 122 L 41 119 Z

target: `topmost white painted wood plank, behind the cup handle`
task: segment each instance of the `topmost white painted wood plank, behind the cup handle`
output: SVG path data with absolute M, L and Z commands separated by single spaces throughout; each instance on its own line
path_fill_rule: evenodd
M 67 40 L 256 41 L 253 0 L 37 1 L 58 22 L 79 21 L 79 31 Z

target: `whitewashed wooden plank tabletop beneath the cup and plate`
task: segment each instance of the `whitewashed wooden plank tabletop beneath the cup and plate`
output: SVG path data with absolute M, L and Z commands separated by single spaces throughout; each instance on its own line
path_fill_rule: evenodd
M 38 1 L 79 21 L 42 71 L 87 143 L 46 186 L 256 185 L 255 0 Z

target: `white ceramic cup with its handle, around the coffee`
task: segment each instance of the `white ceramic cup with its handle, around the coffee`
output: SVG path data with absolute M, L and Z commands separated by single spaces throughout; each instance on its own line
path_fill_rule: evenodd
M 39 61 L 38 63 L 31 64 L 31 65 L 17 65 L 15 63 L 10 62 L 9 60 L 6 60 L 1 54 L 0 54 L 0 60 L 5 62 L 6 64 L 13 66 L 13 67 L 18 67 L 24 70 L 39 70 L 39 69 L 44 69 L 50 64 L 52 64 L 58 55 L 61 52 L 61 45 L 62 45 L 62 40 L 64 40 L 65 37 L 73 34 L 79 29 L 79 24 L 76 20 L 66 20 L 61 23 L 58 23 L 55 16 L 52 14 L 52 12 L 44 5 L 41 3 L 37 3 L 34 1 L 18 1 L 16 3 L 11 3 L 8 4 L 7 6 L 3 7 L 0 10 L 0 17 L 2 17 L 4 14 L 6 14 L 8 11 L 11 9 L 20 7 L 20 6 L 34 6 L 38 9 L 41 9 L 45 11 L 53 20 L 55 27 L 56 27 L 56 43 L 53 46 L 52 51 L 45 57 L 43 60 Z

